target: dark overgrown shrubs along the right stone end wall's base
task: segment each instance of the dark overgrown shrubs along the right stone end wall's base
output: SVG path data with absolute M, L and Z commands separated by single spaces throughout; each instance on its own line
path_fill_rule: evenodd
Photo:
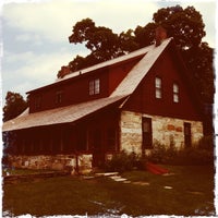
M 197 145 L 184 149 L 177 149 L 174 145 L 167 147 L 157 142 L 148 160 L 165 165 L 213 165 L 213 146 L 214 144 L 209 137 L 203 137 Z

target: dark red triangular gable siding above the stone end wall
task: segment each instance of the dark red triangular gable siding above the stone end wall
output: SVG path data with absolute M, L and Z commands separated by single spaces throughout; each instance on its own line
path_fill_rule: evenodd
M 166 50 L 136 88 L 124 109 L 148 114 L 201 120 L 197 106 L 183 77 L 183 68 L 179 68 L 171 51 Z M 155 96 L 155 78 L 161 78 L 162 97 Z M 179 102 L 173 102 L 173 83 L 179 85 Z

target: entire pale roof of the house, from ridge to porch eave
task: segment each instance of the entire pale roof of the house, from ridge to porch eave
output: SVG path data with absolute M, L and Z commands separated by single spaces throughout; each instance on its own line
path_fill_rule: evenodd
M 154 65 L 158 57 L 162 53 L 162 51 L 167 48 L 172 38 L 168 38 L 165 39 L 160 46 L 156 47 L 155 45 L 152 45 L 146 48 L 140 49 L 132 55 L 120 57 L 111 61 L 106 61 L 104 63 L 99 63 L 97 65 L 83 70 L 82 73 L 87 73 L 100 68 L 105 68 L 106 65 L 126 60 L 128 57 L 133 58 L 145 53 L 144 57 L 133 66 L 125 78 L 119 84 L 119 86 L 109 97 L 35 113 L 28 113 L 28 110 L 26 110 L 17 118 L 3 123 L 2 130 L 13 131 L 34 126 L 72 123 L 121 99 L 123 99 L 120 105 L 120 107 L 122 107 L 125 104 L 125 97 L 130 96 L 136 89 L 141 81 L 148 73 L 150 68 Z M 68 80 L 72 76 L 73 74 L 69 74 L 62 80 Z

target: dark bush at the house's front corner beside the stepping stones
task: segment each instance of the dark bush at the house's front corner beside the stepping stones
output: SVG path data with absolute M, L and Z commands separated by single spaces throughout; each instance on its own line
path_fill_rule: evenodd
M 122 150 L 112 156 L 112 159 L 107 160 L 105 164 L 106 171 L 118 171 L 124 172 L 133 170 L 138 165 L 138 157 L 135 153 L 128 154 L 125 150 Z

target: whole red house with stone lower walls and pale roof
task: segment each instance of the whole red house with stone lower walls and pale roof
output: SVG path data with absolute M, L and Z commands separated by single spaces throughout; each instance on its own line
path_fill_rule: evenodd
M 203 136 L 201 107 L 172 38 L 28 92 L 29 108 L 3 123 L 14 167 L 98 167 L 120 150 L 148 154 Z

